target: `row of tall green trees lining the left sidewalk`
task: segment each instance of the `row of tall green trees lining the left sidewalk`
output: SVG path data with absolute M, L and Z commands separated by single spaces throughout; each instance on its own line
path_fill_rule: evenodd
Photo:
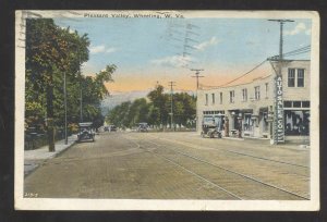
M 64 76 L 71 130 L 81 119 L 96 125 L 104 122 L 100 101 L 108 94 L 104 83 L 112 81 L 117 67 L 107 65 L 93 77 L 82 75 L 89 44 L 87 34 L 61 28 L 51 18 L 26 21 L 25 128 L 47 132 L 50 151 L 55 151 L 56 128 L 64 125 Z

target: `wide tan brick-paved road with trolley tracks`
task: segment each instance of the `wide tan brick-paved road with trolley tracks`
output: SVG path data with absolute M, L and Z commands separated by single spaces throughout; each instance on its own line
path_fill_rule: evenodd
M 310 151 L 195 133 L 101 133 L 45 162 L 24 193 L 52 198 L 308 199 Z

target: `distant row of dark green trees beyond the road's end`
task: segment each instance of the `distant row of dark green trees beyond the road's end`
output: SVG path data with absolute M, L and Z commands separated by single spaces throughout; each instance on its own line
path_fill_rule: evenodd
M 108 112 L 107 122 L 119 127 L 133 127 L 137 123 L 146 122 L 156 127 L 171 124 L 171 104 L 173 124 L 191 126 L 195 119 L 195 103 L 193 96 L 186 92 L 171 95 L 164 92 L 164 86 L 157 85 L 147 98 L 126 101 Z

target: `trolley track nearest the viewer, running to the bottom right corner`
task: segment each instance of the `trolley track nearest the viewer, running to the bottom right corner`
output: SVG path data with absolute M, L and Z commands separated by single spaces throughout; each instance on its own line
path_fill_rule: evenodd
M 136 139 L 137 141 L 135 141 Z M 154 141 L 145 141 L 140 138 L 136 139 L 134 138 L 132 140 L 138 145 L 141 149 L 144 149 L 158 158 L 165 159 L 203 182 L 228 193 L 233 197 L 233 199 L 271 199 L 271 197 L 274 199 L 308 199 L 306 196 L 208 162 L 190 153 L 185 153 L 167 146 L 165 146 L 165 149 L 158 149 L 158 147 L 162 147 L 162 145 Z M 146 144 L 152 144 L 150 148 L 147 147 Z M 155 145 L 156 148 L 153 148 L 153 145 Z M 215 170 L 208 171 L 208 166 Z M 261 198 L 258 196 L 261 196 Z

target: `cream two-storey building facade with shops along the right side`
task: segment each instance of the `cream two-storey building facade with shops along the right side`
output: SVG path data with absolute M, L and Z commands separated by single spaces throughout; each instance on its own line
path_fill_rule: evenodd
M 222 136 L 308 143 L 310 61 L 283 61 L 281 90 L 276 89 L 277 72 L 271 66 L 251 83 L 198 89 L 198 133 L 203 124 L 215 123 Z

